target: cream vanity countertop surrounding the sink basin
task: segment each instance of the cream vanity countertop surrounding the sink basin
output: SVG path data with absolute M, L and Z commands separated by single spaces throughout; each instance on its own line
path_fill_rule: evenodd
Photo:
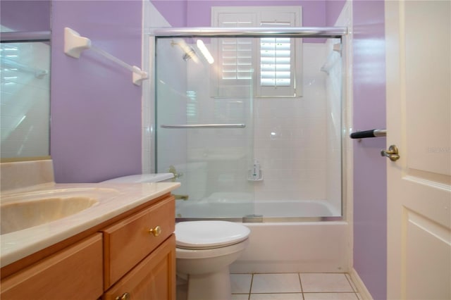
M 1 235 L 0 266 L 8 265 L 39 250 L 103 223 L 116 215 L 180 187 L 179 182 L 156 183 L 94 183 L 42 185 L 35 191 L 58 193 L 80 192 L 97 199 L 93 206 L 66 218 Z M 27 189 L 30 192 L 33 189 Z M 16 191 L 18 192 L 18 191 Z M 2 197 L 8 198 L 11 194 Z M 3 200 L 2 200 L 3 201 Z M 174 216 L 175 218 L 175 216 Z

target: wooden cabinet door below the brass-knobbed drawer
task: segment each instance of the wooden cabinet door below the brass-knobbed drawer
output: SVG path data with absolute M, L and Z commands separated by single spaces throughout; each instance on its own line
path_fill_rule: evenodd
M 121 296 L 130 300 L 175 300 L 174 235 L 106 291 L 102 299 L 115 300 Z

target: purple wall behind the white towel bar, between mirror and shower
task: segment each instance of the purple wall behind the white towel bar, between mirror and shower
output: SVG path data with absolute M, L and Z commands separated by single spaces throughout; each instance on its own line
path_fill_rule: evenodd
M 130 65 L 141 65 L 141 1 L 53 1 L 51 156 L 56 182 L 141 173 L 141 87 L 94 51 L 63 53 L 70 27 Z

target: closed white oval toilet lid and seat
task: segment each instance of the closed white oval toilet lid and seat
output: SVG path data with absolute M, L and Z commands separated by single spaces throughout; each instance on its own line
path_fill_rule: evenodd
M 175 224 L 175 243 L 183 249 L 213 249 L 249 237 L 244 225 L 228 221 L 187 221 Z

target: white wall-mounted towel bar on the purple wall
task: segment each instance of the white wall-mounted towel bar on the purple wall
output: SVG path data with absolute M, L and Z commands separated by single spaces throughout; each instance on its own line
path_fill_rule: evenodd
M 121 65 L 121 67 L 132 72 L 132 82 L 134 85 L 141 85 L 142 80 L 147 79 L 149 76 L 147 72 L 144 72 L 136 65 L 129 65 L 121 61 L 119 58 L 112 56 L 108 52 L 99 49 L 97 47 L 92 46 L 91 40 L 87 37 L 80 37 L 80 34 L 75 30 L 70 29 L 69 27 L 64 28 L 64 53 L 73 58 L 80 58 L 80 54 L 82 51 L 86 49 L 91 49 L 108 58 L 110 61 Z

